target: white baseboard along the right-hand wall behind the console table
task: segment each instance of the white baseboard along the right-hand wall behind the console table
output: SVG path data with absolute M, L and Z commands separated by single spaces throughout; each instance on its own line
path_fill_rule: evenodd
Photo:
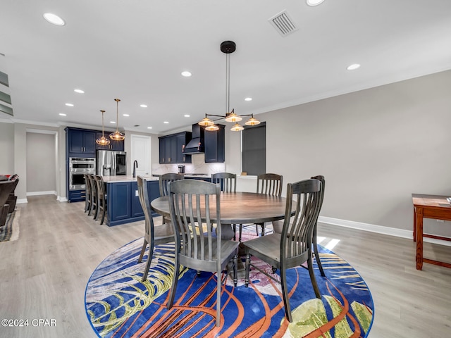
M 408 239 L 414 239 L 413 230 L 396 229 L 395 227 L 383 227 L 382 225 L 373 225 L 368 223 L 354 222 L 352 220 L 340 220 L 339 218 L 331 218 L 319 216 L 318 221 L 321 223 L 338 225 L 340 227 L 351 227 L 352 229 L 377 232 L 378 234 L 388 234 L 390 236 L 403 237 Z M 447 237 L 449 238 L 449 237 Z M 424 242 L 442 244 L 451 246 L 450 241 L 444 241 L 441 239 L 424 237 Z

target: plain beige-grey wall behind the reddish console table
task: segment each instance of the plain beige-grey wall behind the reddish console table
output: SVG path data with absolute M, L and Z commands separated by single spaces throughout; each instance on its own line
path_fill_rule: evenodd
M 323 216 L 412 230 L 412 193 L 451 196 L 450 88 L 447 71 L 259 114 L 266 171 L 284 185 L 324 175 Z M 228 132 L 235 173 L 239 139 Z M 451 236 L 451 224 L 426 225 Z

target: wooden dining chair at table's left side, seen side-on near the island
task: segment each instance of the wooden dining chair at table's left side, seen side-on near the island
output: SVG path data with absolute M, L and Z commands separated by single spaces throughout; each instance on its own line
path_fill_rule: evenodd
M 170 223 L 163 223 L 162 225 L 154 226 L 154 218 L 152 218 L 152 209 L 149 201 L 149 185 L 147 180 L 142 176 L 137 176 L 138 196 L 142 211 L 144 211 L 144 243 L 138 258 L 138 263 L 141 263 L 144 253 L 146 252 L 147 244 L 149 244 L 149 256 L 147 256 L 146 267 L 142 274 L 142 282 L 147 280 L 152 257 L 154 256 L 154 247 L 158 244 L 174 242 L 173 225 Z

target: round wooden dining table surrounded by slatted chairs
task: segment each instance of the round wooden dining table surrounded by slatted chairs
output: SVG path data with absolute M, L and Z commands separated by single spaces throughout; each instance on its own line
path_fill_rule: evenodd
M 216 196 L 215 196 L 216 198 Z M 233 224 L 265 223 L 285 218 L 286 199 L 267 194 L 254 192 L 221 192 L 221 237 L 233 238 Z M 212 201 L 213 202 L 213 201 Z M 211 203 L 216 206 L 216 203 Z M 168 196 L 161 196 L 151 202 L 152 209 L 170 218 Z M 292 214 L 296 205 L 292 205 Z M 216 211 L 211 211 L 211 219 Z

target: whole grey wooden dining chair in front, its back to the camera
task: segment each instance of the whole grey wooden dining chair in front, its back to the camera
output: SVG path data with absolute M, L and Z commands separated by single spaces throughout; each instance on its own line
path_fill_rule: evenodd
M 175 232 L 175 275 L 167 308 L 170 309 L 173 306 L 180 265 L 197 271 L 216 273 L 216 326 L 221 325 L 223 282 L 221 273 L 226 267 L 233 268 L 233 281 L 236 286 L 239 244 L 221 239 L 220 196 L 220 188 L 211 182 L 178 180 L 169 185 L 169 206 Z M 216 227 L 211 218 L 218 220 Z M 216 228 L 216 235 L 214 228 Z M 225 279 L 228 273 L 229 269 Z

